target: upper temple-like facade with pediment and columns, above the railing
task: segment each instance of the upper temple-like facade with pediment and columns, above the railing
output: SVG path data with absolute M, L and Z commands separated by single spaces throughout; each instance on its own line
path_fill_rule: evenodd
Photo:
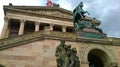
M 20 12 L 19 10 L 15 10 L 15 12 L 17 13 L 13 14 L 11 12 L 14 12 L 14 10 L 11 10 L 11 8 L 7 6 L 5 7 L 6 16 L 4 18 L 5 24 L 2 31 L 3 38 L 43 30 L 45 26 L 50 26 L 50 30 L 72 32 L 73 23 L 71 21 L 72 13 L 70 11 L 65 11 L 57 7 L 53 8 L 53 7 L 44 7 L 44 6 L 43 7 L 26 6 L 25 10 L 30 9 L 27 11 L 25 11 L 24 8 L 20 6 L 14 7 L 14 9 L 16 8 L 20 8 L 23 10 L 22 11 L 20 10 Z M 33 12 L 32 10 L 35 12 Z M 59 12 L 59 10 L 61 11 Z M 46 17 L 49 17 L 50 19 Z M 66 25 L 66 23 L 69 23 L 69 25 Z

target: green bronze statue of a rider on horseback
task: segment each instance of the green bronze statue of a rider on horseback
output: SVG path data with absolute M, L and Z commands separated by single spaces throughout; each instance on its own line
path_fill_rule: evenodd
M 103 31 L 96 27 L 96 25 L 90 21 L 84 21 L 83 19 L 86 17 L 85 14 L 89 14 L 88 11 L 83 10 L 83 2 L 80 2 L 80 4 L 73 10 L 73 24 L 75 31 L 77 30 L 83 30 L 85 27 L 92 27 L 93 29 L 98 30 L 100 33 L 103 33 Z

